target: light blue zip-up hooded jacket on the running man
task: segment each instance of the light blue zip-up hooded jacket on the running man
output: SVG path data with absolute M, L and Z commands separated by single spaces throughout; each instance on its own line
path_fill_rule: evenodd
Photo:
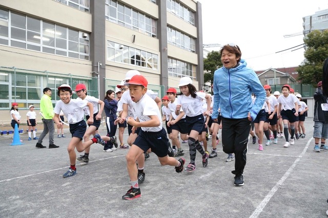
M 256 76 L 256 73 L 247 67 L 245 60 L 241 59 L 236 68 L 219 68 L 214 72 L 214 104 L 212 119 L 218 117 L 220 105 L 221 116 L 229 119 L 247 118 L 251 112 L 251 117 L 255 120 L 261 110 L 265 91 Z M 252 93 L 256 100 L 252 105 Z

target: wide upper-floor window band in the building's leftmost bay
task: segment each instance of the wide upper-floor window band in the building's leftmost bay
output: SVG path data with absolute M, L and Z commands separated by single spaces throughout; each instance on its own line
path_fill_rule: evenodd
M 1 8 L 0 44 L 89 60 L 87 33 Z

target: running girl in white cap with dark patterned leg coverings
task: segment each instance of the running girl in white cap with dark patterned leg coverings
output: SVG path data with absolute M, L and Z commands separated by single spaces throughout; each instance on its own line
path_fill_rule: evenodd
M 208 165 L 209 155 L 203 150 L 202 146 L 199 144 L 198 135 L 204 125 L 204 116 L 210 114 L 211 108 L 211 95 L 203 92 L 197 92 L 196 87 L 192 84 L 193 81 L 190 77 L 182 77 L 180 79 L 179 87 L 181 95 L 178 97 L 176 102 L 175 114 L 179 115 L 180 110 L 186 114 L 186 124 L 188 130 L 188 144 L 189 144 L 189 154 L 190 163 L 185 168 L 187 172 L 192 172 L 196 168 L 195 159 L 196 152 L 202 155 L 203 167 Z M 207 100 L 207 110 L 202 113 L 202 100 Z

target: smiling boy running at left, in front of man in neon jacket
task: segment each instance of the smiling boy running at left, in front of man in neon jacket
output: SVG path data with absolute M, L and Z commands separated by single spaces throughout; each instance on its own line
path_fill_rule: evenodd
M 86 148 L 90 147 L 93 143 L 103 143 L 101 137 L 98 134 L 94 135 L 94 138 L 91 140 L 87 140 L 82 142 L 83 136 L 87 130 L 87 124 L 84 121 L 84 108 L 88 106 L 90 114 L 93 114 L 93 104 L 88 102 L 87 100 L 81 99 L 71 99 L 72 90 L 71 86 L 68 84 L 62 84 L 58 87 L 57 95 L 60 98 L 60 101 L 57 101 L 56 106 L 54 108 L 54 121 L 57 124 L 57 128 L 60 128 L 63 125 L 62 122 L 59 122 L 59 114 L 60 110 L 63 111 L 65 116 L 67 117 L 67 121 L 70 125 L 70 133 L 72 134 L 72 139 L 68 144 L 67 151 L 70 157 L 70 168 L 66 173 L 64 173 L 63 177 L 68 178 L 74 176 L 76 174 L 76 154 L 74 148 L 78 152 L 84 151 Z M 93 123 L 93 116 L 91 116 L 87 120 L 88 124 Z

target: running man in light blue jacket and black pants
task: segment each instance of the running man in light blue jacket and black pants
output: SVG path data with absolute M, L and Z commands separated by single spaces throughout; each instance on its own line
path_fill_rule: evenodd
M 261 110 L 265 91 L 256 73 L 241 59 L 237 45 L 223 46 L 220 55 L 223 67 L 214 72 L 212 119 L 217 121 L 220 105 L 223 151 L 235 153 L 234 185 L 242 186 L 251 122 Z M 256 95 L 253 105 L 252 93 Z

